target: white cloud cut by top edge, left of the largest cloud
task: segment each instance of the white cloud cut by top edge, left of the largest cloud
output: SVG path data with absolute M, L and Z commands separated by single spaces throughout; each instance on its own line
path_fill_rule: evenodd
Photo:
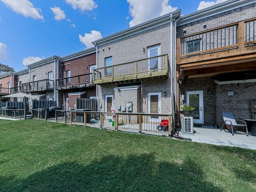
M 67 4 L 70 4 L 74 10 L 79 9 L 80 11 L 91 11 L 97 8 L 97 4 L 94 0 L 65 0 Z

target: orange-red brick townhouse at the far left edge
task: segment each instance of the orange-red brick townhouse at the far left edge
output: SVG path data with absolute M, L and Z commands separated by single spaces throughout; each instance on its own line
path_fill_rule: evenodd
M 6 72 L 0 75 L 0 96 L 11 94 L 14 86 L 17 86 L 15 72 Z

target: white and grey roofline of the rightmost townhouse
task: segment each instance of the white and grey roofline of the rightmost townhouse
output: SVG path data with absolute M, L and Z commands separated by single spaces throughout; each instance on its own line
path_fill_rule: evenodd
M 202 18 L 210 17 L 255 2 L 256 0 L 229 0 L 223 3 L 219 3 L 214 6 L 210 6 L 208 8 L 190 13 L 188 15 L 181 16 L 180 20 L 177 23 L 177 26 L 181 26 L 190 22 L 200 20 Z

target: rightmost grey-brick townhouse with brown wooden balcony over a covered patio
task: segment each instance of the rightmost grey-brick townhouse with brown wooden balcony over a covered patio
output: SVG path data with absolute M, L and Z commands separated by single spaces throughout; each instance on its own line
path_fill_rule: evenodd
M 253 118 L 256 1 L 230 0 L 182 16 L 176 30 L 178 110 L 194 106 L 194 123 L 209 126 L 222 126 L 221 112 Z

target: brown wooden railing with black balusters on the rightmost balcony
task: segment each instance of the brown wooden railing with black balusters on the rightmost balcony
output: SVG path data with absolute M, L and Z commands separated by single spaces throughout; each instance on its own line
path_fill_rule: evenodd
M 251 54 L 256 44 L 256 18 L 177 38 L 177 64 Z M 225 62 L 224 60 L 222 62 Z

